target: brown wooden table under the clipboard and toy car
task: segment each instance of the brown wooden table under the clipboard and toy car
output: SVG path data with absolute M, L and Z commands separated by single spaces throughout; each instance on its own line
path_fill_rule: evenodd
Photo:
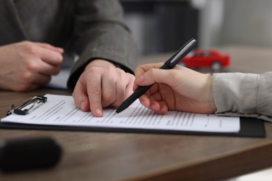
M 226 72 L 272 70 L 270 49 L 220 50 L 232 56 Z M 140 63 L 167 57 L 146 57 Z M 70 94 L 50 89 L 0 91 L 0 117 L 11 103 L 45 93 Z M 56 167 L 0 173 L 0 180 L 223 180 L 272 166 L 272 124 L 265 123 L 265 127 L 266 138 L 0 129 L 1 139 L 51 136 L 63 148 Z

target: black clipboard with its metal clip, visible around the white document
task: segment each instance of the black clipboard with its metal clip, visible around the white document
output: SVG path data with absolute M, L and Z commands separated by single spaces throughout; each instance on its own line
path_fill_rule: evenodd
M 17 107 L 13 106 L 7 112 L 7 115 L 17 113 L 25 115 L 33 109 L 33 104 L 44 103 L 47 97 L 37 95 L 29 100 L 22 102 Z M 29 106 L 28 109 L 24 107 Z M 18 111 L 19 110 L 19 111 Z M 38 130 L 56 130 L 56 131 L 84 131 L 84 132 L 126 132 L 126 133 L 151 133 L 151 134 L 190 134 L 190 135 L 211 135 L 211 136 L 243 136 L 243 137 L 265 137 L 264 121 L 257 118 L 240 118 L 239 132 L 201 132 L 201 131 L 186 131 L 186 130 L 166 130 L 166 129 L 135 129 L 122 127 L 82 127 L 82 126 L 67 126 L 67 125 L 36 125 L 24 123 L 2 123 L 1 129 L 38 129 Z

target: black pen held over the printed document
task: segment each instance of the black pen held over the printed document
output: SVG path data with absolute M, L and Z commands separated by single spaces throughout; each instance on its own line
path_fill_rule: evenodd
M 186 44 L 183 45 L 183 47 L 181 47 L 171 58 L 169 58 L 160 69 L 174 68 L 176 63 L 179 63 L 179 61 L 181 61 L 181 58 L 186 56 L 195 47 L 195 45 L 197 45 L 197 40 L 192 38 L 191 40 L 186 42 Z M 153 86 L 153 84 L 149 86 L 139 86 L 139 88 L 137 88 L 137 90 L 116 109 L 116 113 L 120 113 L 121 111 L 128 108 L 130 104 L 133 104 L 135 100 L 137 100 L 139 97 L 141 97 L 141 95 L 148 91 L 151 86 Z

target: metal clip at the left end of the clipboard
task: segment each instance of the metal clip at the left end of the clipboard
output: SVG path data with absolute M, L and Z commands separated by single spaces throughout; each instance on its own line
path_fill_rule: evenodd
M 35 104 L 39 104 L 40 102 L 47 102 L 47 97 L 40 96 L 40 95 L 37 95 L 35 97 L 30 97 L 28 100 L 17 105 L 17 107 L 15 107 L 15 105 L 12 104 L 11 109 L 6 113 L 6 115 L 8 116 L 12 113 L 16 113 L 18 115 L 27 115 L 27 113 L 29 113 L 29 110 L 32 109 L 35 106 Z

